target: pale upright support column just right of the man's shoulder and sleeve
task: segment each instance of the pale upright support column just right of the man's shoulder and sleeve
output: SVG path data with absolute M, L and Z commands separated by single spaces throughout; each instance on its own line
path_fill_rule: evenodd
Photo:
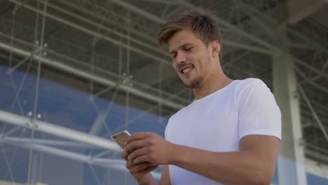
M 278 30 L 280 45 L 286 46 L 285 27 Z M 306 185 L 306 168 L 302 144 L 301 115 L 294 61 L 287 48 L 273 57 L 273 92 L 282 113 L 282 143 L 278 158 L 279 184 Z

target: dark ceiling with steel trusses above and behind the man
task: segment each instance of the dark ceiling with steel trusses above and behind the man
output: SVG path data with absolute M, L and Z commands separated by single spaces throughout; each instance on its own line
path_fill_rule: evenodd
M 168 117 L 193 97 L 167 50 L 158 47 L 158 29 L 182 11 L 212 11 L 223 34 L 221 63 L 231 78 L 261 78 L 273 90 L 272 58 L 289 53 L 306 155 L 328 163 L 327 8 L 323 0 L 6 0 L 0 2 L 0 64 L 23 69 L 32 58 L 44 65 L 42 78 L 99 96 L 118 88 L 130 93 L 133 106 L 156 114 L 152 107 L 161 107 Z M 286 46 L 277 39 L 281 30 Z M 84 80 L 72 85 L 54 72 Z

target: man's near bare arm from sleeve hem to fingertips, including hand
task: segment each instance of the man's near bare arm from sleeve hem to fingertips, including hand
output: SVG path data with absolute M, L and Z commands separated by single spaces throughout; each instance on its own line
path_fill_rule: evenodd
M 137 139 L 137 140 L 135 140 Z M 137 133 L 126 146 L 135 163 L 172 164 L 224 184 L 271 184 L 280 139 L 247 135 L 240 151 L 212 152 L 179 146 L 152 133 Z

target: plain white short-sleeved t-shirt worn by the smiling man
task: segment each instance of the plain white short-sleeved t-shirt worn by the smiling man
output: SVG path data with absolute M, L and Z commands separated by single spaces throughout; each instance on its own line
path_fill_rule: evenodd
M 280 109 L 257 78 L 235 80 L 193 101 L 171 116 L 165 129 L 169 142 L 217 152 L 239 151 L 239 141 L 246 135 L 281 139 Z M 169 171 L 172 185 L 220 184 L 175 165 L 169 165 Z

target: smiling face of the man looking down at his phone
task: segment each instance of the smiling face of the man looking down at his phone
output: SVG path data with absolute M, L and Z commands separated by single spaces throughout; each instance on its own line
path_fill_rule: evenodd
M 212 71 L 212 51 L 193 32 L 183 29 L 168 40 L 173 67 L 186 87 L 198 88 Z

